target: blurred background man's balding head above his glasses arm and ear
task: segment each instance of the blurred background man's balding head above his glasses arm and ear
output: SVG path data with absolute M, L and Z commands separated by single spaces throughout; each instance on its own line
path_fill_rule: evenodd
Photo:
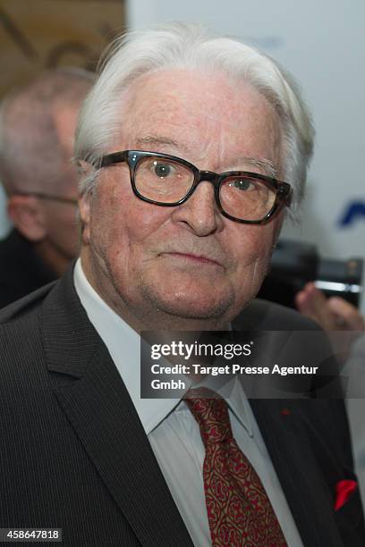
M 76 68 L 43 72 L 5 97 L 0 110 L 0 180 L 8 195 L 62 194 L 68 184 L 73 132 L 94 80 Z

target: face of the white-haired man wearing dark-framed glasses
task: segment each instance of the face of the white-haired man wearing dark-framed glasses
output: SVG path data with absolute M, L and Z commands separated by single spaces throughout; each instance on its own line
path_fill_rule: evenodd
M 201 170 L 280 174 L 278 118 L 266 99 L 220 73 L 164 71 L 130 88 L 122 134 L 108 150 L 141 149 L 182 157 Z M 263 226 L 218 212 L 203 181 L 181 206 L 155 206 L 132 193 L 128 166 L 102 170 L 83 198 L 82 264 L 121 316 L 154 328 L 222 327 L 252 299 L 267 273 L 280 218 Z

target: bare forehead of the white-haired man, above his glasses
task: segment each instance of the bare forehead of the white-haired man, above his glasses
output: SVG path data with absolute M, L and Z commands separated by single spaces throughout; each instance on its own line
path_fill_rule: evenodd
M 120 116 L 115 149 L 157 151 L 160 139 L 163 151 L 191 160 L 243 152 L 278 159 L 281 130 L 273 107 L 250 84 L 222 72 L 149 72 L 128 89 Z

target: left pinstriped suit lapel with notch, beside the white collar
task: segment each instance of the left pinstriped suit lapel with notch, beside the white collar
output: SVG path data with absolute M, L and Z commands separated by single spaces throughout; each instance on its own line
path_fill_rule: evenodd
M 192 545 L 132 400 L 68 273 L 45 300 L 42 335 L 55 396 L 140 543 Z

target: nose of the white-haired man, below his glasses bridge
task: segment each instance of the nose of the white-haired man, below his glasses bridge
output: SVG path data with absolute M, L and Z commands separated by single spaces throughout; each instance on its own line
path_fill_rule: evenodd
M 216 206 L 213 184 L 200 182 L 192 196 L 174 209 L 172 219 L 184 223 L 200 237 L 221 231 L 224 219 Z

